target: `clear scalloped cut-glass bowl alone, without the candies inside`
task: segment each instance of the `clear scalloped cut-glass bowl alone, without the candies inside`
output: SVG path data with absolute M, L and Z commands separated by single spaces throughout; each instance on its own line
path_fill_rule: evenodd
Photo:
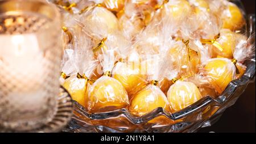
M 241 1 L 232 1 L 243 9 Z M 255 32 L 255 15 L 247 18 L 246 35 Z M 254 33 L 255 35 L 255 33 Z M 255 39 L 253 40 L 255 44 Z M 131 115 L 127 109 L 105 113 L 88 113 L 76 101 L 72 120 L 64 132 L 196 132 L 199 128 L 210 126 L 220 118 L 226 108 L 232 106 L 245 91 L 247 84 L 255 80 L 255 57 L 245 62 L 245 74 L 229 83 L 222 95 L 213 99 L 206 96 L 189 107 L 176 113 L 156 108 L 142 117 Z

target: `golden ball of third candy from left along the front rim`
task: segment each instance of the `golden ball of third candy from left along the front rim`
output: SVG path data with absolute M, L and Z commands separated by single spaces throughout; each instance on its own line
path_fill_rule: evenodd
M 162 107 L 170 110 L 166 95 L 159 87 L 148 85 L 138 94 L 134 95 L 130 101 L 129 111 L 136 116 L 143 116 L 154 109 Z

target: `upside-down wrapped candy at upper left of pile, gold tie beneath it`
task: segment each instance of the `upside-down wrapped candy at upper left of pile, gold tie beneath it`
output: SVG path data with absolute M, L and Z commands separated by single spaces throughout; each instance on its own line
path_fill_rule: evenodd
M 103 20 L 104 22 L 101 22 L 101 16 L 94 15 L 96 14 L 94 11 L 96 13 L 101 11 L 105 14 L 104 11 L 108 10 L 103 7 L 94 7 L 93 10 L 84 14 L 86 19 L 81 20 L 80 23 L 82 24 L 82 31 L 86 33 L 86 35 L 92 40 L 94 45 L 92 50 L 95 58 L 97 58 L 99 54 L 102 54 L 101 49 L 113 49 L 115 52 L 117 52 L 118 48 L 130 45 L 131 42 L 127 40 L 121 31 L 119 31 L 118 25 L 117 27 L 111 28 L 111 24 L 109 25 L 109 23 L 105 23 L 105 20 Z M 112 12 L 110 13 L 112 14 Z M 117 20 L 115 15 L 112 14 L 112 16 L 114 16 L 114 19 L 112 19 L 113 22 Z M 116 24 L 118 24 L 117 21 Z

